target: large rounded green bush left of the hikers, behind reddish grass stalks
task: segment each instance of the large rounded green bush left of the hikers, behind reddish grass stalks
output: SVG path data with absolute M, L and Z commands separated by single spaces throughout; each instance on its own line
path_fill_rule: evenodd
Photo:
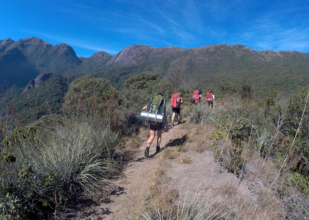
M 121 124 L 119 118 L 123 106 L 124 97 L 107 80 L 84 75 L 70 84 L 62 110 L 72 117 L 104 121 L 116 127 Z

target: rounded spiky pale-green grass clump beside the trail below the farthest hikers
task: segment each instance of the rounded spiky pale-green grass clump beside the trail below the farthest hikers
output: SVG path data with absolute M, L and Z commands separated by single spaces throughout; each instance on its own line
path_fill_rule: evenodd
M 194 105 L 190 108 L 190 111 L 191 113 L 188 118 L 188 123 L 190 124 L 208 125 L 216 122 L 216 112 L 210 110 L 206 104 Z

